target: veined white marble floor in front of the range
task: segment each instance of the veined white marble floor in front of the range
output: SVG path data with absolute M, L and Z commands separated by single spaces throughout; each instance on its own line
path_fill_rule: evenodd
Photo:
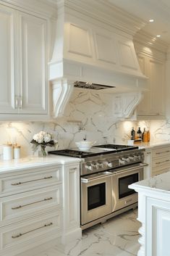
M 69 244 L 56 244 L 36 256 L 136 256 L 140 247 L 137 210 L 129 210 L 106 223 L 82 232 Z

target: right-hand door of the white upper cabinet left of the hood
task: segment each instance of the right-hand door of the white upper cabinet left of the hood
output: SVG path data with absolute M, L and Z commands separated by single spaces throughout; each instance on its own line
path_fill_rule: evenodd
M 19 112 L 46 114 L 48 100 L 47 21 L 19 12 Z

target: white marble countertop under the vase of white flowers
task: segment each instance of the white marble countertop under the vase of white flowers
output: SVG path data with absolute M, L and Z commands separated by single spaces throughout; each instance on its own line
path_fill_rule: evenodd
M 80 162 L 80 158 L 49 155 L 48 157 L 23 157 L 18 160 L 0 160 L 0 173 L 36 168 L 46 165 Z

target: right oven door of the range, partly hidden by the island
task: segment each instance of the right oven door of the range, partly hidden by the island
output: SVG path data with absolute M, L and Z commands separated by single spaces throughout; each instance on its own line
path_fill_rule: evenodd
M 137 164 L 116 170 L 112 176 L 113 209 L 120 210 L 137 202 L 137 192 L 129 189 L 128 186 L 137 181 L 143 180 L 143 170 L 146 164 Z

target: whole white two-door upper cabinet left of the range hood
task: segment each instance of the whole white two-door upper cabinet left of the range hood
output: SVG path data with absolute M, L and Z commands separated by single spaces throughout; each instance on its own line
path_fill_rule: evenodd
M 48 114 L 47 25 L 43 17 L 0 4 L 1 119 Z

